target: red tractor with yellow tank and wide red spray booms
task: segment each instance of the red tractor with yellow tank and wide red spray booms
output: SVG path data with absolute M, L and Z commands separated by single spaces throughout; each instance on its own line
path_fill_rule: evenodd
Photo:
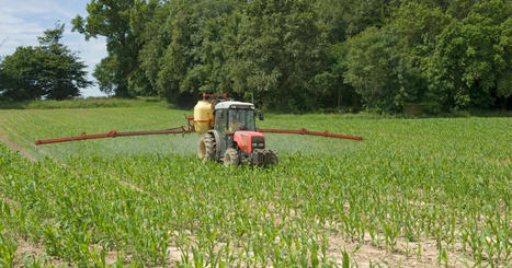
M 207 97 L 214 97 L 207 100 Z M 226 100 L 226 95 L 203 94 L 203 101 L 194 107 L 194 117 L 189 117 L 187 128 L 184 127 L 156 130 L 86 135 L 52 140 L 37 140 L 35 144 L 56 142 L 115 138 L 141 135 L 168 135 L 197 132 L 201 139 L 197 147 L 197 156 L 203 161 L 223 161 L 226 166 L 239 165 L 248 162 L 253 165 L 273 165 L 278 163 L 277 153 L 266 149 L 265 136 L 262 132 L 312 135 L 340 139 L 363 140 L 361 137 L 312 132 L 306 129 L 258 129 L 257 115 L 252 103 L 242 103 Z M 263 120 L 263 114 L 259 116 Z M 193 124 L 192 124 L 193 123 Z

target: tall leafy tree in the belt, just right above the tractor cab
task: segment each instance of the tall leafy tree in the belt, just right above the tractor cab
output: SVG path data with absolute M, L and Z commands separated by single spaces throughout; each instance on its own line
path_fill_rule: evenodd
M 315 75 L 323 70 L 326 43 L 312 1 L 254 0 L 243 11 L 231 79 L 237 93 L 254 93 L 266 107 L 318 107 Z

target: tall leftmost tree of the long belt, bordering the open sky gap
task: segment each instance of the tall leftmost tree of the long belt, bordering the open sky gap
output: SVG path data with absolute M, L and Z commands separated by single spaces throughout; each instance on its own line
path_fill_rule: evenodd
M 103 92 L 133 96 L 137 91 L 144 91 L 140 88 L 149 85 L 147 80 L 139 81 L 137 69 L 140 45 L 136 40 L 134 26 L 130 25 L 130 16 L 145 4 L 144 0 L 92 0 L 87 5 L 88 16 L 83 19 L 77 15 L 71 21 L 72 31 L 83 34 L 86 40 L 98 36 L 106 37 L 109 56 L 96 65 L 93 73 Z M 137 7 L 139 9 L 135 9 Z

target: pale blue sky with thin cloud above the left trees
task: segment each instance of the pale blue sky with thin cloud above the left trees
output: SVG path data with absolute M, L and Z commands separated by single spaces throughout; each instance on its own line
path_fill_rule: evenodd
M 66 24 L 61 43 L 78 53 L 88 66 L 90 80 L 96 63 L 106 56 L 104 38 L 86 42 L 83 35 L 71 33 L 71 20 L 87 16 L 88 0 L 0 0 L 0 56 L 13 54 L 19 46 L 36 46 L 37 36 L 57 22 Z M 82 96 L 104 96 L 96 85 L 81 91 Z

